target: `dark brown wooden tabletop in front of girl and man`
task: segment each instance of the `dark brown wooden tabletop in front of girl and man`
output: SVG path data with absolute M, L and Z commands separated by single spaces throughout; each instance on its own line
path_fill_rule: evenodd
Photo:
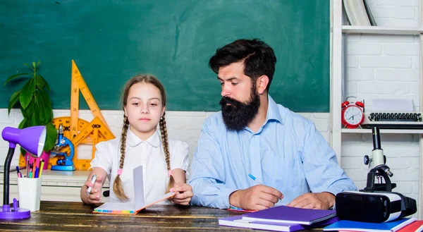
M 97 205 L 98 206 L 98 205 Z M 1 231 L 255 231 L 219 226 L 218 219 L 242 214 L 207 207 L 154 205 L 137 215 L 93 214 L 97 206 L 42 201 L 29 219 L 0 220 Z M 321 228 L 314 230 L 321 231 Z M 306 232 L 306 231 L 302 231 Z M 309 231 L 311 232 L 311 231 Z

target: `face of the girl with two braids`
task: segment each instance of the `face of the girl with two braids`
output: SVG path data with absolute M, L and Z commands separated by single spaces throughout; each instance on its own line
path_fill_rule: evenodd
M 165 108 L 157 87 L 148 83 L 134 84 L 124 107 L 130 130 L 141 140 L 147 140 L 156 131 Z

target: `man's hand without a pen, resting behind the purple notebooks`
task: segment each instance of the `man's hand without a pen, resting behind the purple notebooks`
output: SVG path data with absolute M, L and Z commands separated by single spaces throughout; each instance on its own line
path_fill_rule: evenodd
M 295 198 L 286 206 L 304 209 L 329 209 L 335 204 L 335 196 L 332 193 L 305 193 Z

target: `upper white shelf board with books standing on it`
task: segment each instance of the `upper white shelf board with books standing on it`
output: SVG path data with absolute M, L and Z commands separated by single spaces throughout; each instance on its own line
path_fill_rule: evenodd
M 347 34 L 419 35 L 423 34 L 423 28 L 343 25 L 342 32 Z

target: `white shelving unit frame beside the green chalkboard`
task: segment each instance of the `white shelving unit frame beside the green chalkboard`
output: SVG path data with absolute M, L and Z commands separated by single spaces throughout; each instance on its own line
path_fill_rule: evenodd
M 369 129 L 345 129 L 341 125 L 341 102 L 345 98 L 343 92 L 343 67 L 345 59 L 345 37 L 350 34 L 373 35 L 418 35 L 419 37 L 419 111 L 423 111 L 423 62 L 422 62 L 422 42 L 423 42 L 423 4 L 419 1 L 419 27 L 418 28 L 389 28 L 381 26 L 350 26 L 343 25 L 342 0 L 331 1 L 331 109 L 330 109 L 330 132 L 331 146 L 336 152 L 338 161 L 341 162 L 341 139 L 345 133 L 371 133 Z M 348 77 L 347 77 L 348 78 Z M 418 133 L 423 130 L 380 130 L 381 133 Z M 417 204 L 420 209 L 423 205 L 423 137 L 419 136 L 419 200 Z M 419 219 L 423 218 L 422 210 L 419 210 Z

